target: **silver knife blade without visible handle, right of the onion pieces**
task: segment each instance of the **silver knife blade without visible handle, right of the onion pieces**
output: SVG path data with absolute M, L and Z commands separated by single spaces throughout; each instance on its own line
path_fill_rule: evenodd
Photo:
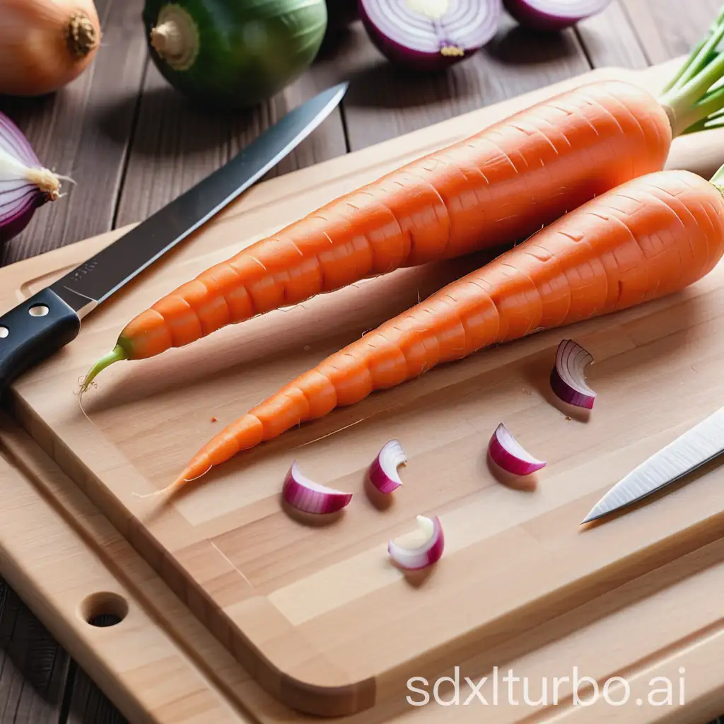
M 724 408 L 720 408 L 618 481 L 594 505 L 581 525 L 633 505 L 675 483 L 723 452 Z

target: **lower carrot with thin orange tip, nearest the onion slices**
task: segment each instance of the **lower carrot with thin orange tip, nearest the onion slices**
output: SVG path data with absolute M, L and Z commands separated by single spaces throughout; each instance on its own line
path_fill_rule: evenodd
M 662 171 L 571 211 L 368 332 L 220 432 L 170 488 L 336 407 L 500 342 L 668 295 L 724 253 L 724 167 Z

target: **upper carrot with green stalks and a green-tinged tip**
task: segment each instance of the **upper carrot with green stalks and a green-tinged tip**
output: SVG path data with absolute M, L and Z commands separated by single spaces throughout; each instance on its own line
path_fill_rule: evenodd
M 584 85 L 342 196 L 211 266 L 140 313 L 83 389 L 121 360 L 159 355 L 228 324 L 402 266 L 522 240 L 620 183 L 664 167 L 673 136 L 724 107 L 710 87 L 723 18 L 660 98 Z

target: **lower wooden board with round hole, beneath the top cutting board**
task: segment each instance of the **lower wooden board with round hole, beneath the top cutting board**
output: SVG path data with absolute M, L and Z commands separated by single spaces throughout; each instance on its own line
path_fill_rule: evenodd
M 72 254 L 66 258 L 72 258 Z M 249 724 L 251 720 L 263 724 L 311 721 L 275 702 L 230 661 L 222 644 L 214 641 L 198 619 L 154 576 L 148 564 L 98 514 L 80 489 L 27 434 L 5 418 L 0 420 L 0 441 L 5 452 L 5 458 L 0 459 L 4 502 L 0 507 L 0 550 L 12 562 L 5 568 L 23 597 L 37 607 L 78 660 L 103 682 L 133 724 L 179 724 L 178 712 L 162 702 L 174 685 L 181 689 L 180 694 L 188 688 L 182 685 L 179 670 L 159 665 L 179 657 L 185 662 L 184 676 L 188 675 L 188 667 L 198 668 L 202 678 L 204 673 L 209 675 L 209 702 L 218 696 L 219 689 L 231 701 L 238 702 L 237 724 Z M 17 536 L 20 510 L 34 526 L 26 525 L 28 532 Z M 552 699 L 515 706 L 501 698 L 495 706 L 484 710 L 477 705 L 454 710 L 433 705 L 413 709 L 405 700 L 405 689 L 391 692 L 392 696 L 373 710 L 332 722 L 442 724 L 450 722 L 450 711 L 455 712 L 456 724 L 479 724 L 481 711 L 486 722 L 492 724 L 530 724 L 533 720 L 548 722 L 561 717 L 572 719 L 573 724 L 598 722 L 599 717 L 608 716 L 610 707 L 599 702 L 591 709 L 572 702 L 570 675 L 576 666 L 579 675 L 593 677 L 599 687 L 614 675 L 625 675 L 632 700 L 639 694 L 647 695 L 654 676 L 676 680 L 678 670 L 684 668 L 685 707 L 676 706 L 674 712 L 668 707 L 617 707 L 615 722 L 671 724 L 670 715 L 675 713 L 677 724 L 702 724 L 724 706 L 719 667 L 724 656 L 720 585 L 723 575 L 724 542 L 719 539 L 673 563 L 642 573 L 628 584 L 553 618 L 544 626 L 527 628 L 521 636 L 506 633 L 482 650 L 471 647 L 457 662 L 460 675 L 468 675 L 473 682 L 488 676 L 488 684 L 481 693 L 491 704 L 494 666 L 500 668 L 499 678 L 510 669 L 515 675 L 529 678 L 532 686 L 540 686 L 543 677 L 551 681 L 554 675 L 568 675 L 568 681 L 561 680 L 555 706 Z M 72 590 L 68 588 L 69 578 L 73 581 Z M 77 610 L 85 597 L 98 590 L 119 592 L 125 597 L 130 615 L 143 634 L 143 647 L 120 647 L 119 651 L 117 637 L 108 639 L 103 631 L 98 631 L 98 636 L 88 636 L 83 621 L 77 618 Z M 647 625 L 641 626 L 641 621 Z M 129 671 L 140 665 L 140 657 L 146 657 L 149 649 L 156 661 L 153 670 L 144 669 L 135 686 L 122 686 Z M 111 676 L 106 675 L 108 672 Z M 436 665 L 418 671 L 429 682 L 453 673 L 454 670 Z M 535 702 L 536 692 L 529 692 L 529 700 Z M 440 693 L 445 695 L 447 691 L 442 688 Z M 463 684 L 461 696 L 467 695 Z M 246 713 L 242 715 L 241 710 Z M 198 724 L 221 721 L 214 718 L 209 707 L 186 707 L 185 715 L 195 717 L 193 720 Z M 93 720 L 93 724 L 98 723 Z

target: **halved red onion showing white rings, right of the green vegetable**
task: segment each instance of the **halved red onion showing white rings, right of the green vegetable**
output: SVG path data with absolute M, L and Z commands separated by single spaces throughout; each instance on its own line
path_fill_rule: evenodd
M 359 0 L 372 42 L 392 62 L 440 70 L 497 33 L 501 0 Z

